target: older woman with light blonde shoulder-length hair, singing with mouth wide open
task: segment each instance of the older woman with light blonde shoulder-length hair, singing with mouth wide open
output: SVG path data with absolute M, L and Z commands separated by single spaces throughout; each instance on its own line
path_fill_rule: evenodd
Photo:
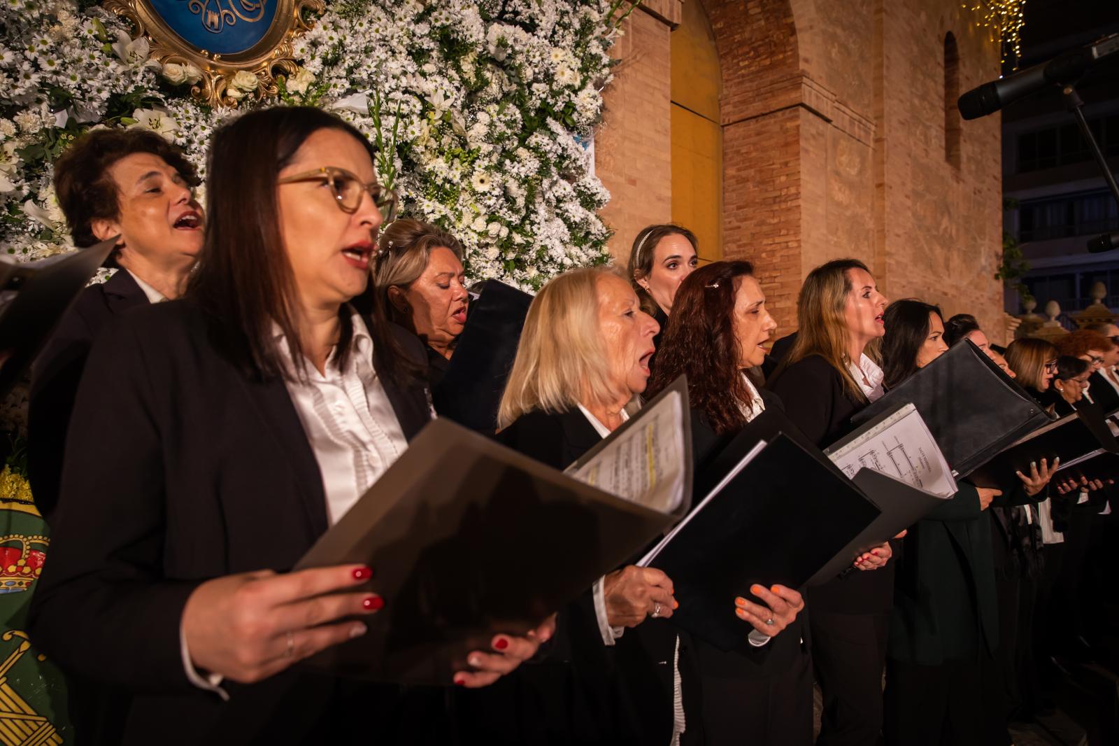
M 498 438 L 567 467 L 626 421 L 626 404 L 645 391 L 658 330 L 629 282 L 611 270 L 577 269 L 553 279 L 528 309 L 498 410 Z M 675 605 L 668 576 L 629 566 L 561 613 L 560 636 L 572 642 L 568 673 L 586 688 L 594 735 L 567 733 L 554 743 L 668 744 L 686 728 L 683 708 L 673 707 L 679 692 L 675 631 L 657 625 L 655 642 L 622 634 L 649 617 L 671 616 Z M 650 645 L 656 652 L 647 652 Z M 658 666 L 650 655 L 674 664 Z M 543 677 L 539 668 L 524 670 L 521 679 L 533 686 Z M 564 694 L 553 686 L 544 696 Z

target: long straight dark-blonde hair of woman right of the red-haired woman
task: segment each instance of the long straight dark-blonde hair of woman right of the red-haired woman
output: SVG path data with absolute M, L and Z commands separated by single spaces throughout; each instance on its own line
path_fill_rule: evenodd
M 844 391 L 853 401 L 865 402 L 866 394 L 847 370 L 848 330 L 844 311 L 850 292 L 850 270 L 869 272 L 857 259 L 836 259 L 817 267 L 800 288 L 797 297 L 797 339 L 786 355 L 775 375 L 793 363 L 819 355 L 843 377 Z M 871 360 L 880 362 L 878 339 L 863 351 Z M 858 361 L 855 361 L 858 364 Z M 775 376 L 774 376 L 775 377 Z

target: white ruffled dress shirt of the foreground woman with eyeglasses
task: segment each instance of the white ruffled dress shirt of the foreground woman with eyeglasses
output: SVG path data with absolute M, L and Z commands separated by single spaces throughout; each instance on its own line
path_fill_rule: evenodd
M 141 280 L 137 278 L 137 282 Z M 141 283 L 140 287 L 144 286 Z M 305 382 L 284 382 L 322 474 L 327 520 L 331 525 L 408 447 L 385 386 L 373 369 L 369 330 L 356 311 L 351 313 L 350 321 L 354 335 L 345 370 L 338 370 L 332 362 L 328 362 L 323 374 L 308 362 Z M 273 325 L 273 334 L 286 354 L 288 342 L 279 326 Z M 328 361 L 332 357 L 333 349 Z M 203 678 L 195 669 L 181 625 L 179 642 L 187 679 L 196 687 L 228 700 L 228 694 L 220 687 L 220 675 Z

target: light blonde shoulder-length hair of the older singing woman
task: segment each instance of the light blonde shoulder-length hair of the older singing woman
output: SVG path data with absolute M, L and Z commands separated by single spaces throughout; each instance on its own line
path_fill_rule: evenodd
M 564 272 L 533 299 L 517 358 L 498 408 L 498 429 L 535 410 L 565 412 L 601 404 L 610 388 L 606 349 L 599 334 L 599 280 L 617 272 L 587 267 Z

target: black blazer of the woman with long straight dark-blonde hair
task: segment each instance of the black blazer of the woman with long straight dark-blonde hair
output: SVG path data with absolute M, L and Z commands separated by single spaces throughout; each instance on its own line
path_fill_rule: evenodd
M 809 355 L 781 371 L 767 388 L 784 403 L 786 414 L 818 447 L 850 432 L 852 416 L 866 405 L 852 400 L 837 370 Z M 893 606 L 894 562 L 856 570 L 809 589 L 811 609 L 840 614 L 888 614 Z

